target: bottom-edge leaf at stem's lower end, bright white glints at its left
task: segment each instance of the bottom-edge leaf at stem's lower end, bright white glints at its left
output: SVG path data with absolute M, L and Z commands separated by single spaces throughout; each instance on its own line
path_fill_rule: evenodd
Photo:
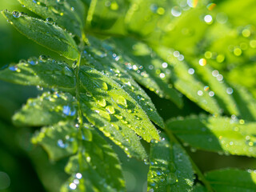
M 125 191 L 117 155 L 94 130 L 91 132 L 92 141 L 82 141 L 83 149 L 66 165 L 71 177 L 61 191 Z

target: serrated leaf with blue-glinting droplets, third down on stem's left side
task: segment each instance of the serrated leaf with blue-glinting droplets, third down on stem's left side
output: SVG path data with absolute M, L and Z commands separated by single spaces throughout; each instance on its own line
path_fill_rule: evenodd
M 74 120 L 77 116 L 77 102 L 70 94 L 43 93 L 41 97 L 30 98 L 13 121 L 18 126 L 50 126 L 60 121 Z

